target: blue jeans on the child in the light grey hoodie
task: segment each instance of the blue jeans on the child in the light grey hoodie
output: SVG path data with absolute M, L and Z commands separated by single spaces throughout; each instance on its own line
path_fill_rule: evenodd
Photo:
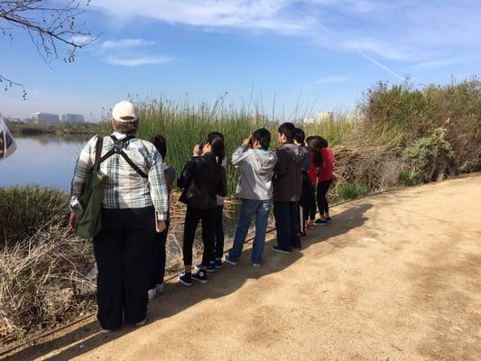
M 242 199 L 241 210 L 239 214 L 239 222 L 236 227 L 236 236 L 234 236 L 234 245 L 229 252 L 229 258 L 237 260 L 242 254 L 245 237 L 249 231 L 251 219 L 255 217 L 255 236 L 252 246 L 252 262 L 260 264 L 263 260 L 265 231 L 267 229 L 267 220 L 269 219 L 269 211 L 271 210 L 270 200 L 254 200 Z

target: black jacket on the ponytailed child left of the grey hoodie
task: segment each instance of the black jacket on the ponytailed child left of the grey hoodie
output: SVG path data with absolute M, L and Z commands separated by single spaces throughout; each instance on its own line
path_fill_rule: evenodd
M 217 194 L 227 196 L 226 170 L 214 153 L 194 156 L 185 163 L 177 186 L 183 189 L 179 200 L 189 207 L 217 208 Z

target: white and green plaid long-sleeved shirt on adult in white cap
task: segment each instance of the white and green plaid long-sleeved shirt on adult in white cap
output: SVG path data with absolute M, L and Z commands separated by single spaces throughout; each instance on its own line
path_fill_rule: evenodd
M 125 134 L 114 132 L 117 139 Z M 71 184 L 71 211 L 79 210 L 79 195 L 82 193 L 88 173 L 95 162 L 97 135 L 90 139 L 79 154 Z M 102 155 L 114 145 L 109 136 L 104 138 Z M 158 220 L 165 220 L 169 211 L 169 193 L 162 169 L 162 156 L 153 143 L 134 138 L 125 143 L 124 152 L 145 173 L 143 178 L 125 162 L 120 154 L 114 154 L 100 164 L 100 171 L 108 176 L 102 208 L 144 208 L 153 206 Z

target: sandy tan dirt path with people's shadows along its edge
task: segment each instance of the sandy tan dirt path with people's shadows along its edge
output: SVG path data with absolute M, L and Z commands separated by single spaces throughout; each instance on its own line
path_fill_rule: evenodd
M 481 359 L 481 176 L 332 213 L 301 252 L 169 284 L 143 328 L 89 322 L 12 359 Z

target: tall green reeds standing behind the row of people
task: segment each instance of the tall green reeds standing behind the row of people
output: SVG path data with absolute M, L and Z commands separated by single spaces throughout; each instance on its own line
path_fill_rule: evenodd
M 135 101 L 139 108 L 140 125 L 137 135 L 143 139 L 151 139 L 154 134 L 162 134 L 167 139 L 166 162 L 178 172 L 185 161 L 192 155 L 195 144 L 205 141 L 210 132 L 220 132 L 226 138 L 226 155 L 230 157 L 242 141 L 255 129 L 265 127 L 273 135 L 271 148 L 277 147 L 277 128 L 281 119 L 267 116 L 254 107 L 226 105 L 224 97 L 219 97 L 213 105 L 200 103 L 194 105 L 188 99 L 147 99 Z M 294 123 L 306 130 L 307 135 L 322 135 L 329 143 L 346 143 L 355 129 L 355 123 L 345 116 L 336 116 L 333 121 L 321 121 L 303 125 L 301 120 Z M 109 125 L 105 124 L 106 132 Z M 229 193 L 236 190 L 239 172 L 227 165 L 227 185 Z

